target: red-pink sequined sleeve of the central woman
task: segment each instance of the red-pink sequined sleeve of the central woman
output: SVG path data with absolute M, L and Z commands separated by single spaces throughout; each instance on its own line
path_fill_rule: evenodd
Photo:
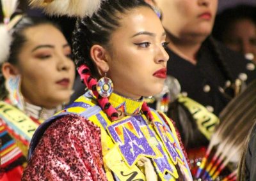
M 45 131 L 22 180 L 107 180 L 100 129 L 78 115 L 66 115 Z

